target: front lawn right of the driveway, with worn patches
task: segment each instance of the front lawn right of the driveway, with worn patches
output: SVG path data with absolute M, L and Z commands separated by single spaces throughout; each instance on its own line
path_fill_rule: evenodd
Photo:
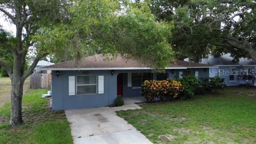
M 240 89 L 242 94 L 235 93 Z M 226 88 L 219 94 L 191 100 L 141 105 L 140 110 L 118 111 L 118 116 L 153 143 L 256 143 L 255 88 Z M 172 141 L 158 138 L 166 135 Z

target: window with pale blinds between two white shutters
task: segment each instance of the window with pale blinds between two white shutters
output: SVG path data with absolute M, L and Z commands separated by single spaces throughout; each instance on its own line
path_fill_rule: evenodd
M 76 76 L 76 94 L 96 94 L 96 76 Z

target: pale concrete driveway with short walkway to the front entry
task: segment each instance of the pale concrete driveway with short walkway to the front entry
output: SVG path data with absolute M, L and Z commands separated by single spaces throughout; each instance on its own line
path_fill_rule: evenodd
M 74 144 L 152 144 L 109 107 L 65 110 L 65 113 L 71 122 Z

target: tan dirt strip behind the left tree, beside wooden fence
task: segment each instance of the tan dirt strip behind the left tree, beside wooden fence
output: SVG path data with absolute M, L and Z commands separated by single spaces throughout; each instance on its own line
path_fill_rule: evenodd
M 24 82 L 23 91 L 29 89 L 30 77 L 28 77 Z M 5 102 L 10 102 L 11 100 L 11 90 L 12 84 L 9 77 L 0 77 L 0 107 L 4 105 Z

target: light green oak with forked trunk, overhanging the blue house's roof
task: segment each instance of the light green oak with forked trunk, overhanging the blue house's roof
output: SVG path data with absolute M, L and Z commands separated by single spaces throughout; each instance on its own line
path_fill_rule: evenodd
M 0 0 L 0 12 L 16 26 L 15 36 L 0 29 L 0 48 L 9 50 L 14 58 L 13 66 L 0 59 L 12 81 L 11 126 L 22 124 L 24 81 L 46 55 L 70 53 L 79 64 L 83 55 L 121 53 L 154 68 L 164 68 L 173 56 L 167 42 L 173 26 L 156 22 L 144 2 Z M 28 53 L 36 58 L 26 71 Z

